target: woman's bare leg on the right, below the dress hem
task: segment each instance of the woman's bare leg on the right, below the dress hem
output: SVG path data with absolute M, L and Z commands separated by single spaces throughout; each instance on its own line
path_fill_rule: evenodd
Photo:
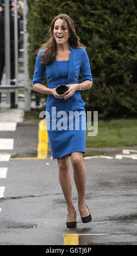
M 88 216 L 89 210 L 86 208 L 85 187 L 86 187 L 86 170 L 83 163 L 83 153 L 74 152 L 71 154 L 71 162 L 73 166 L 74 182 L 78 191 L 78 208 L 81 217 Z

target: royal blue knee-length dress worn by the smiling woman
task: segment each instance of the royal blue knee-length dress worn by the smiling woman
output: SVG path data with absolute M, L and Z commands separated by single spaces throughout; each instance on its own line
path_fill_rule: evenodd
M 54 62 L 45 66 L 41 62 L 41 50 L 36 58 L 33 84 L 43 84 L 46 72 L 48 88 L 56 88 L 59 84 L 78 83 L 79 71 L 82 82 L 92 81 L 89 58 L 85 48 L 70 46 L 68 61 Z M 85 153 L 86 114 L 85 104 L 77 90 L 68 99 L 57 99 L 48 94 L 46 102 L 46 126 L 53 159 L 58 159 L 73 152 Z

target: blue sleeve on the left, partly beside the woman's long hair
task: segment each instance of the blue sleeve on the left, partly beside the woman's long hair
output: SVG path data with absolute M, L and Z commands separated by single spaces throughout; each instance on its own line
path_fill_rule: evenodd
M 45 73 L 45 66 L 42 66 L 40 64 L 41 62 L 41 52 L 39 52 L 38 56 L 36 57 L 36 64 L 35 64 L 35 70 L 33 75 L 33 84 L 41 83 L 43 84 L 43 77 Z

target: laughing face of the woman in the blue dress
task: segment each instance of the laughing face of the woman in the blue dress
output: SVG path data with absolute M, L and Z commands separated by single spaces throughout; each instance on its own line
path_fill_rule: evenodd
M 67 22 L 65 21 L 64 26 L 63 22 L 64 20 L 58 19 L 54 23 L 53 34 L 57 44 L 64 44 L 65 42 L 68 42 L 69 29 Z

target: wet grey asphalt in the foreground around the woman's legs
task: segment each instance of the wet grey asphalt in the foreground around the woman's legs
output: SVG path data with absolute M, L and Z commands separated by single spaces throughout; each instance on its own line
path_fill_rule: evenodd
M 64 234 L 79 234 L 79 245 L 136 245 L 136 160 L 84 160 L 86 204 L 92 215 L 82 223 L 72 179 L 77 228 L 67 229 L 66 203 L 57 160 L 10 160 L 0 198 L 0 245 L 63 245 Z M 73 178 L 72 165 L 70 172 Z

